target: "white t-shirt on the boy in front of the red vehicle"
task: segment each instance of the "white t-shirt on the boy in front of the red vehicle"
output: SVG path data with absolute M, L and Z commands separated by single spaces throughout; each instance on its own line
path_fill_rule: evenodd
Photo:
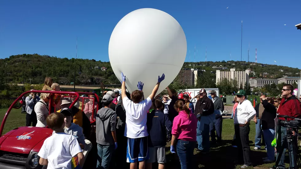
M 71 169 L 71 159 L 82 152 L 76 138 L 66 133 L 48 137 L 38 156 L 48 160 L 48 169 Z

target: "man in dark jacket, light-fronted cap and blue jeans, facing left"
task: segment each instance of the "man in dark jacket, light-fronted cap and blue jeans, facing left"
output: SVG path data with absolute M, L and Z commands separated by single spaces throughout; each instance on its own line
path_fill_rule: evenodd
M 209 124 L 213 123 L 215 119 L 214 105 L 210 98 L 207 97 L 205 89 L 201 89 L 200 99 L 195 104 L 194 115 L 196 115 L 197 121 L 197 151 L 202 153 L 209 152 Z

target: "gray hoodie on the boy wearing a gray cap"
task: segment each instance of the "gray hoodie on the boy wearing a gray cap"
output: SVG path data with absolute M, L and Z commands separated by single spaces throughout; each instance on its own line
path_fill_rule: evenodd
M 110 108 L 101 108 L 96 114 L 96 142 L 102 145 L 114 144 L 111 131 L 115 131 L 116 112 Z

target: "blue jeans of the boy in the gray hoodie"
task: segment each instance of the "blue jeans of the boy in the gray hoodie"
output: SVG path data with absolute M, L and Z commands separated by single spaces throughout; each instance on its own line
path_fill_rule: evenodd
M 114 145 L 97 144 L 97 164 L 96 169 L 108 169 L 110 167 L 111 157 L 114 151 Z

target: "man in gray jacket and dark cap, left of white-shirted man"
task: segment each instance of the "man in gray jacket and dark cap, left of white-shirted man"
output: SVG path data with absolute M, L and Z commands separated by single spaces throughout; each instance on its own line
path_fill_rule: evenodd
M 211 142 L 213 144 L 216 143 L 221 144 L 221 131 L 223 126 L 222 112 L 224 111 L 224 103 L 221 100 L 221 98 L 217 97 L 215 90 L 212 90 L 210 92 L 210 95 L 212 97 L 214 111 L 216 112 L 213 123 L 210 123 Z M 216 131 L 217 140 L 215 139 L 215 131 Z

